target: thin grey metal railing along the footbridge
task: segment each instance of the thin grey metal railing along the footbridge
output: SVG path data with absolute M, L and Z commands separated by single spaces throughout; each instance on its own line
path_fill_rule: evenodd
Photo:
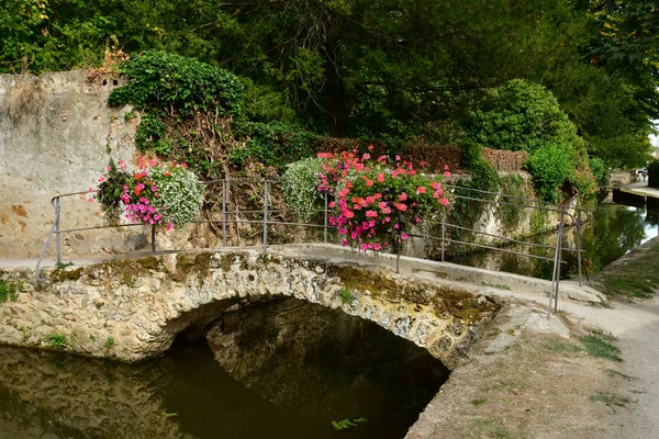
M 288 221 L 288 219 L 284 221 L 284 213 L 289 213 L 289 212 L 292 213 L 293 212 L 292 210 L 270 209 L 270 195 L 272 192 L 271 188 L 273 184 L 281 183 L 280 180 L 222 179 L 222 180 L 213 180 L 213 181 L 204 182 L 204 184 L 206 184 L 206 185 L 215 184 L 215 183 L 222 184 L 222 191 L 221 191 L 222 198 L 221 198 L 221 211 L 220 211 L 221 218 L 219 218 L 219 219 L 212 219 L 212 218 L 211 219 L 198 219 L 198 221 L 194 221 L 194 223 L 197 223 L 197 224 L 221 223 L 222 224 L 222 245 L 224 247 L 227 247 L 227 235 L 228 235 L 227 224 L 232 224 L 232 223 L 233 224 L 261 225 L 263 226 L 261 244 L 263 244 L 263 252 L 264 254 L 266 254 L 268 251 L 268 227 L 269 226 L 300 226 L 300 227 L 322 228 L 324 243 L 328 241 L 330 230 L 336 230 L 336 227 L 331 226 L 328 224 L 330 210 L 328 210 L 327 192 L 324 193 L 323 209 L 313 211 L 319 214 L 322 214 L 322 217 L 323 217 L 322 224 L 317 224 L 317 223 L 297 222 L 297 221 Z M 244 183 L 249 183 L 249 184 L 256 183 L 256 184 L 263 185 L 261 209 L 241 210 L 238 207 L 235 211 L 230 211 L 228 207 L 230 207 L 231 203 L 228 200 L 228 194 L 231 193 L 231 185 L 232 184 L 244 184 Z M 513 206 L 513 207 L 533 209 L 533 210 L 539 210 L 539 211 L 544 211 L 544 212 L 554 212 L 559 215 L 559 222 L 556 227 L 556 234 L 557 234 L 556 246 L 537 244 L 537 243 L 532 243 L 528 240 L 514 239 L 514 238 L 510 238 L 510 237 L 505 237 L 505 236 L 501 236 L 501 235 L 490 234 L 490 233 L 482 232 L 482 230 L 479 230 L 476 228 L 459 226 L 456 224 L 448 223 L 445 217 L 443 217 L 439 223 L 439 225 L 440 225 L 440 236 L 439 237 L 432 236 L 432 235 L 414 234 L 414 233 L 409 234 L 409 236 L 411 236 L 411 237 L 422 238 L 422 239 L 426 239 L 426 240 L 431 240 L 431 241 L 439 241 L 440 243 L 440 255 L 442 255 L 440 260 L 442 261 L 445 261 L 446 249 L 447 249 L 447 246 L 450 244 L 465 245 L 465 246 L 470 246 L 470 247 L 474 247 L 474 248 L 490 249 L 490 250 L 494 250 L 494 251 L 514 254 L 514 255 L 523 256 L 523 257 L 527 257 L 527 258 L 551 261 L 554 263 L 554 271 L 552 271 L 552 279 L 551 279 L 551 291 L 549 293 L 549 306 L 548 306 L 548 311 L 547 311 L 548 316 L 551 315 L 552 302 L 554 302 L 554 311 L 556 312 L 558 309 L 558 291 L 559 291 L 559 284 L 560 284 L 560 270 L 561 270 L 561 263 L 566 263 L 566 261 L 562 260 L 563 251 L 577 252 L 579 285 L 582 284 L 583 249 L 582 249 L 582 245 L 581 245 L 581 227 L 582 227 L 582 223 L 581 223 L 582 210 L 581 209 L 570 209 L 571 211 L 576 212 L 576 216 L 574 216 L 571 213 L 569 213 L 566 210 L 566 207 L 562 205 L 546 203 L 546 202 L 541 202 L 538 200 L 530 200 L 530 199 L 525 199 L 522 196 L 509 195 L 509 194 L 499 193 L 499 192 L 489 192 L 489 191 L 450 185 L 450 184 L 445 184 L 444 187 L 453 193 L 453 198 L 456 200 L 466 200 L 466 201 L 472 201 L 472 202 L 479 202 L 479 203 L 488 203 L 491 205 L 499 205 L 499 206 L 507 205 L 507 206 Z M 455 193 L 458 190 L 462 191 L 462 193 L 468 192 L 468 193 L 472 194 L 473 196 L 461 195 L 461 194 Z M 56 241 L 57 263 L 60 264 L 62 263 L 62 235 L 64 235 L 64 234 L 75 233 L 75 232 L 87 232 L 87 230 L 94 230 L 94 229 L 104 229 L 104 228 L 115 228 L 115 227 L 143 226 L 142 224 L 120 224 L 116 226 L 99 225 L 99 226 L 87 226 L 87 227 L 62 228 L 62 217 L 63 217 L 62 199 L 76 196 L 76 195 L 80 196 L 83 194 L 90 195 L 89 192 L 72 192 L 72 193 L 56 195 L 51 200 L 51 204 L 55 211 L 55 219 L 53 221 L 53 226 L 51 227 L 51 230 L 46 238 L 44 248 L 43 248 L 43 250 L 40 255 L 38 261 L 36 263 L 36 280 L 37 281 L 40 281 L 40 282 L 48 281 L 48 279 L 40 277 L 40 268 L 41 268 L 43 258 L 46 254 L 46 250 L 52 241 L 53 236 L 55 236 L 55 241 Z M 211 205 L 210 212 L 213 212 L 212 205 Z M 248 217 L 248 215 L 260 215 L 261 217 L 256 218 L 256 219 L 250 219 Z M 281 218 L 280 219 L 276 218 L 275 217 L 276 215 L 279 215 Z M 231 216 L 234 216 L 234 217 L 232 218 Z M 573 225 L 576 225 L 576 227 L 577 227 L 577 248 L 570 248 L 570 247 L 562 246 L 562 237 L 563 237 L 566 216 L 571 218 L 571 223 Z M 451 229 L 466 232 L 466 233 L 472 234 L 474 236 L 484 236 L 488 238 L 498 239 L 501 245 L 495 246 L 495 245 L 483 244 L 482 241 L 481 243 L 471 243 L 471 241 L 466 241 L 462 239 L 454 239 L 449 235 L 447 235 L 447 232 L 451 230 Z M 510 248 L 506 248 L 507 245 L 524 245 L 524 246 L 528 246 L 530 249 L 540 248 L 544 250 L 552 250 L 554 257 L 549 258 L 546 256 L 533 255 L 530 252 L 512 250 Z M 400 247 L 401 246 L 395 246 L 395 247 L 396 247 L 395 271 L 399 272 L 400 271 L 400 257 L 401 257 Z M 156 227 L 155 226 L 153 226 L 150 229 L 150 248 L 152 248 L 152 252 L 155 254 L 156 252 Z M 587 273 L 587 275 L 588 275 L 588 273 Z

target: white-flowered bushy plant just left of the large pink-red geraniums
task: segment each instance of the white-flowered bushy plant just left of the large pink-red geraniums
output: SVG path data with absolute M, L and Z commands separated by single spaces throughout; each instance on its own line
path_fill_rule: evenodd
M 290 164 L 282 176 L 286 202 L 304 222 L 317 216 L 314 211 L 323 207 L 323 193 L 317 190 L 322 171 L 323 160 L 312 157 Z

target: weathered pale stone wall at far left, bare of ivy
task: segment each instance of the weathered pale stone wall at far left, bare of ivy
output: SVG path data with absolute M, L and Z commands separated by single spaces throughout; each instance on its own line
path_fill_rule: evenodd
M 83 71 L 0 75 L 0 257 L 38 256 L 53 224 L 51 199 L 96 187 L 110 157 L 133 158 L 138 119 L 124 117 L 127 106 L 105 104 L 119 83 L 89 82 Z M 102 223 L 98 204 L 83 194 L 63 199 L 63 228 Z M 63 252 L 125 251 L 145 245 L 139 234 L 75 233 L 65 237 Z

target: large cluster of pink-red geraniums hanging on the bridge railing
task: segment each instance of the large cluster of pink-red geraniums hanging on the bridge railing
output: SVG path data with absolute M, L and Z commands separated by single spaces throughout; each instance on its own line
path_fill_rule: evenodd
M 412 226 L 438 218 L 448 209 L 442 177 L 418 172 L 400 156 L 372 159 L 369 153 L 354 150 L 319 157 L 324 164 L 316 189 L 334 195 L 330 207 L 335 213 L 328 221 L 344 237 L 344 246 L 375 251 L 399 246 Z M 448 168 L 445 176 L 450 176 Z

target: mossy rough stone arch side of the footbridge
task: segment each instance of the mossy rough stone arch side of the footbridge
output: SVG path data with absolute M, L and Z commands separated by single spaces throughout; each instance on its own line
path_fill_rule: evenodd
M 0 342 L 138 361 L 241 300 L 291 296 L 375 322 L 447 363 L 498 308 L 448 283 L 253 250 L 114 260 L 44 274 L 53 282 L 37 290 L 30 270 L 0 271 L 20 291 L 0 302 Z

